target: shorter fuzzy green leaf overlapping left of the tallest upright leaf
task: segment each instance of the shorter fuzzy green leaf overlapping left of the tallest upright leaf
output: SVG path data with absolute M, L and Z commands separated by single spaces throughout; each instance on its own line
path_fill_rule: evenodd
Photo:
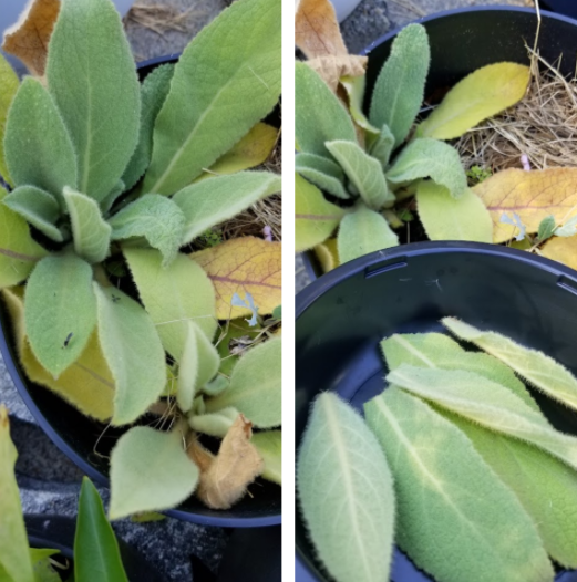
M 24 79 L 18 90 L 6 124 L 4 148 L 17 186 L 37 186 L 59 199 L 64 186 L 76 186 L 72 141 L 56 105 L 37 79 Z

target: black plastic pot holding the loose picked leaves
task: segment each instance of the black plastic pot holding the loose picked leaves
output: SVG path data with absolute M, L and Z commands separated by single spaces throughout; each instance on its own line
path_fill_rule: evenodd
M 379 342 L 443 331 L 454 315 L 542 350 L 577 373 L 577 272 L 505 247 L 423 242 L 378 251 L 321 277 L 297 295 L 296 437 L 317 394 L 334 391 L 362 410 L 387 374 Z M 533 394 L 557 428 L 577 434 L 577 413 Z M 297 515 L 297 582 L 329 580 Z M 393 582 L 430 582 L 399 550 Z M 559 572 L 558 582 L 577 581 Z

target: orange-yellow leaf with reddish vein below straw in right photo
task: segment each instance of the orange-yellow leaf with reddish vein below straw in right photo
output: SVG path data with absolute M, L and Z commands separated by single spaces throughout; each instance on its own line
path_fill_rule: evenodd
M 506 169 L 473 188 L 493 219 L 493 242 L 505 242 L 518 230 L 501 222 L 516 212 L 527 228 L 537 232 L 540 221 L 553 216 L 558 225 L 577 214 L 577 168 L 550 168 L 525 172 Z

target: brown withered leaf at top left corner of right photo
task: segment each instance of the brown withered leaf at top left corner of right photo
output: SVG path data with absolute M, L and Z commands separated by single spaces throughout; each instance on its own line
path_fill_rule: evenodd
M 300 0 L 295 18 L 295 43 L 307 59 L 349 53 L 329 0 Z

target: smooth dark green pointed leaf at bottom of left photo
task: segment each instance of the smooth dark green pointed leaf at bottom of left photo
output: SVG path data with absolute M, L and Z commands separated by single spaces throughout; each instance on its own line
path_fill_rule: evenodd
M 92 481 L 84 477 L 74 537 L 75 582 L 128 582 L 116 536 Z

